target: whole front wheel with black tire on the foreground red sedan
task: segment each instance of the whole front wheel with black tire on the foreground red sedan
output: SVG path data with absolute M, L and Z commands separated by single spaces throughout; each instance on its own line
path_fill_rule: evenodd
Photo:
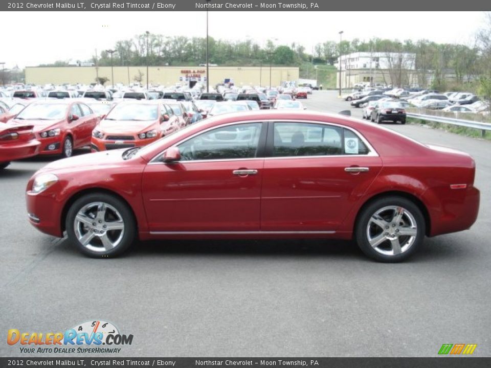
M 95 193 L 77 199 L 66 215 L 66 232 L 86 256 L 116 257 L 135 239 L 135 220 L 115 196 Z

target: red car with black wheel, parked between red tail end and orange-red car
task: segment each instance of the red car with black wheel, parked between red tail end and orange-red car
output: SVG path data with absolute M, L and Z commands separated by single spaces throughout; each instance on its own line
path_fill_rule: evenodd
M 84 103 L 70 100 L 34 101 L 11 120 L 33 125 L 41 142 L 39 154 L 70 157 L 74 149 L 91 144 L 99 117 Z

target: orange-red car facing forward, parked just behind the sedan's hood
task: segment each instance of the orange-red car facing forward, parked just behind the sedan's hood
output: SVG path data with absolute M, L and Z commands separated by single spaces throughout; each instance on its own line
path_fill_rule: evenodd
M 141 147 L 169 135 L 184 125 L 162 100 L 121 102 L 92 132 L 92 152 Z

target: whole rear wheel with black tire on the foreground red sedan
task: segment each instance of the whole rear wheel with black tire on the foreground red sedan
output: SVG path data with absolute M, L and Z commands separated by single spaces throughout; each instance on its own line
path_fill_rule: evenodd
M 398 208 L 402 208 L 404 211 L 399 224 L 394 226 L 391 217 L 395 217 Z M 381 223 L 386 224 L 386 226 L 382 227 L 374 222 L 372 216 L 375 214 L 382 218 Z M 366 205 L 362 209 L 355 226 L 355 238 L 358 246 L 365 255 L 379 262 L 406 260 L 421 247 L 426 232 L 425 218 L 418 206 L 409 199 L 397 196 L 380 198 Z M 409 231 L 414 232 L 414 236 L 399 234 Z M 375 244 L 377 239 L 381 239 L 381 242 L 372 246 L 369 236 L 373 237 L 371 238 L 372 243 Z M 394 240 L 394 238 L 399 244 L 398 249 L 393 247 L 390 240 Z M 399 250 L 400 252 L 398 252 Z M 392 254 L 389 254 L 390 252 Z

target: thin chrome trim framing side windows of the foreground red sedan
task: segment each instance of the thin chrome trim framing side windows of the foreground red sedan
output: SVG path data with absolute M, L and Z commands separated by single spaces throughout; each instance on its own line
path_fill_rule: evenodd
M 185 160 L 185 161 L 179 161 L 179 162 L 180 163 L 203 163 L 203 162 L 228 162 L 228 161 L 244 161 L 244 160 L 248 161 L 248 160 L 258 160 L 258 159 L 271 160 L 271 159 L 299 159 L 299 158 L 326 158 L 326 157 L 330 157 L 330 158 L 334 158 L 334 157 L 379 157 L 378 152 L 375 150 L 375 148 L 373 148 L 373 146 L 365 139 L 365 137 L 358 130 L 355 130 L 351 127 L 341 125 L 338 123 L 331 123 L 331 122 L 324 122 L 324 121 L 317 121 L 317 120 L 298 120 L 298 119 L 261 120 L 261 121 L 244 120 L 241 122 L 232 122 L 232 123 L 228 123 L 225 125 L 220 125 L 219 127 L 225 127 L 225 126 L 237 125 L 237 124 L 247 124 L 247 123 L 282 123 L 282 122 L 284 122 L 284 123 L 324 124 L 324 125 L 330 125 L 330 126 L 336 126 L 339 128 L 348 129 L 353 134 L 358 136 L 358 138 L 367 146 L 369 152 L 367 154 L 352 154 L 352 155 L 343 154 L 343 155 L 316 155 L 316 156 L 277 156 L 277 157 L 251 157 L 251 158 L 224 158 L 224 159 L 209 159 L 209 160 Z M 210 127 L 208 129 L 199 131 L 199 132 L 187 137 L 186 139 L 177 142 L 176 144 L 172 145 L 171 147 L 178 146 L 178 145 L 192 139 L 193 137 L 195 137 L 201 133 L 205 133 L 205 132 L 212 130 L 212 129 L 215 129 L 215 128 L 218 128 L 218 127 L 214 126 L 214 127 Z M 150 160 L 148 165 L 164 164 L 163 162 L 158 160 L 158 157 L 160 157 L 166 151 L 166 149 L 161 151 L 159 154 L 155 155 Z

